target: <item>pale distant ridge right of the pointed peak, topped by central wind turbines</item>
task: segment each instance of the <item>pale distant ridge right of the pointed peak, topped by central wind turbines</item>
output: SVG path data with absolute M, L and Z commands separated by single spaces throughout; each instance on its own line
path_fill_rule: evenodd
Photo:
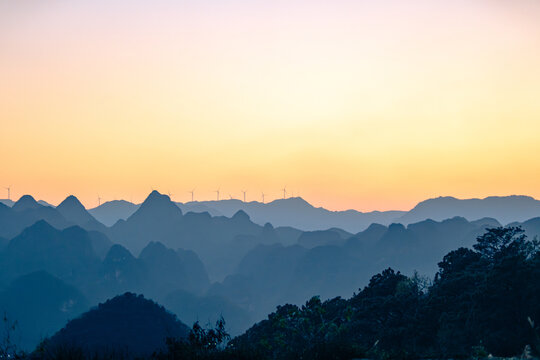
M 300 197 L 274 200 L 269 203 L 240 200 L 220 200 L 178 203 L 181 207 L 205 206 L 230 217 L 239 210 L 245 211 L 251 220 L 263 225 L 290 226 L 300 230 L 326 230 L 340 228 L 356 233 L 364 230 L 371 223 L 390 224 L 404 211 L 373 211 L 362 213 L 356 210 L 330 211 L 316 208 Z M 212 211 L 209 211 L 212 214 Z

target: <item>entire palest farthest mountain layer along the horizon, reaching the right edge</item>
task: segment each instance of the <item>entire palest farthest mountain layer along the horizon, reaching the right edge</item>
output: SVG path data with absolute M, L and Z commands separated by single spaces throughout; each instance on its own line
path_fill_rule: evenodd
M 412 224 L 426 219 L 441 221 L 455 216 L 467 220 L 494 218 L 501 224 L 525 221 L 540 216 L 540 201 L 528 196 L 487 197 L 485 199 L 456 199 L 439 197 L 420 202 L 410 211 L 372 211 L 356 210 L 330 211 L 317 208 L 302 198 L 274 200 L 270 203 L 240 200 L 220 200 L 176 203 L 182 212 L 207 212 L 211 216 L 232 217 L 242 210 L 256 224 L 271 223 L 275 227 L 289 226 L 303 231 L 343 229 L 357 233 L 373 223 Z M 89 210 L 97 220 L 112 226 L 118 220 L 126 220 L 140 205 L 117 200 L 107 202 Z

